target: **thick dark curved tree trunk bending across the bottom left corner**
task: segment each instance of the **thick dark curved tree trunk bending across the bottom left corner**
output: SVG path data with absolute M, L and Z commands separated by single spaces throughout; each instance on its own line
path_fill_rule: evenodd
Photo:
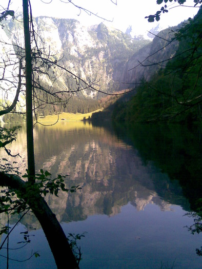
M 55 214 L 52 213 L 44 198 L 34 192 L 30 197 L 27 194 L 26 182 L 13 175 L 0 172 L 0 185 L 8 187 L 10 190 L 18 190 L 21 199 L 30 206 L 34 215 L 42 225 L 42 229 L 48 240 L 50 249 L 55 259 L 58 269 L 78 269 L 76 259 L 72 253 L 67 237 L 59 224 Z

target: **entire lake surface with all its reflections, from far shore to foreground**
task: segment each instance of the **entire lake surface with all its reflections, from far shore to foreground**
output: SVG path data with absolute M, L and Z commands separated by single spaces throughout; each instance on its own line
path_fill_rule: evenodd
M 176 126 L 112 131 L 63 122 L 36 126 L 34 137 L 36 169 L 53 176 L 68 174 L 67 187 L 82 187 L 77 193 L 47 197 L 67 235 L 86 232 L 79 242 L 80 268 L 170 268 L 173 263 L 174 268 L 201 268 L 202 258 L 195 252 L 201 234 L 188 232 L 185 226 L 192 225 L 193 218 L 184 216 L 196 209 L 201 193 L 198 131 Z M 23 129 L 12 143 L 13 152 L 22 156 L 22 173 L 25 148 Z M 6 223 L 4 216 L 1 219 Z M 37 221 L 26 216 L 22 223 L 35 227 L 29 232 L 35 236 L 24 249 L 10 251 L 10 258 L 25 260 L 32 251 L 41 257 L 10 261 L 9 268 L 56 268 Z M 23 224 L 10 237 L 11 247 L 22 241 Z M 0 257 L 0 262 L 6 268 L 6 259 Z

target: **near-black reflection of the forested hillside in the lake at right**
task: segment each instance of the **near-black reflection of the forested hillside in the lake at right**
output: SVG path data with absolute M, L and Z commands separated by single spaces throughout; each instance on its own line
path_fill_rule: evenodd
M 127 137 L 130 137 L 130 143 L 138 150 L 144 163 L 152 161 L 171 179 L 167 187 L 168 182 L 153 178 L 157 194 L 168 202 L 180 204 L 181 199 L 177 195 L 179 182 L 191 209 L 197 211 L 202 189 L 200 131 L 177 125 L 135 125 L 127 129 Z M 122 127 L 117 127 L 116 132 L 126 138 Z M 184 202 L 183 207 L 188 210 L 186 200 Z

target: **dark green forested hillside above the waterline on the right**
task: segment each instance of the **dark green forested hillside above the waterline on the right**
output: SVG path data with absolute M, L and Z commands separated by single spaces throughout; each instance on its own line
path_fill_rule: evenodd
M 150 63 L 143 63 L 147 66 L 144 68 L 150 66 L 157 70 L 160 65 L 161 69 L 156 71 L 149 81 L 142 79 L 137 94 L 127 104 L 121 99 L 117 102 L 113 112 L 115 120 L 188 123 L 201 120 L 201 29 L 200 9 L 193 20 L 189 19 L 183 27 L 172 31 L 173 38 L 170 43 L 177 48 L 175 54 L 173 51 L 172 55 L 167 55 L 167 60 L 156 58 L 155 61 L 150 60 Z

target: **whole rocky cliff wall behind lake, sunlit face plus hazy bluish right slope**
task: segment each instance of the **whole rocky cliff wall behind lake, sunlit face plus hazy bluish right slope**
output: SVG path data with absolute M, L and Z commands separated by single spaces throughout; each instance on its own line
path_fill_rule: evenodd
M 142 78 L 149 80 L 159 68 L 159 65 L 152 64 L 164 64 L 163 61 L 170 58 L 177 48 L 176 42 L 170 42 L 173 37 L 170 30 L 161 31 L 159 37 L 155 36 L 151 41 L 132 38 L 130 34 L 108 28 L 104 23 L 86 28 L 75 19 L 52 17 L 36 17 L 34 30 L 39 49 L 52 55 L 78 77 L 94 81 L 93 86 L 106 93 L 133 88 Z M 7 22 L 1 31 L 6 32 L 12 44 L 24 46 L 21 16 L 14 22 Z M 76 81 L 70 82 L 70 77 L 64 71 L 58 72 L 55 89 L 77 89 Z M 47 77 L 43 82 L 51 85 Z M 103 94 L 89 89 L 78 91 L 76 95 L 103 97 Z

